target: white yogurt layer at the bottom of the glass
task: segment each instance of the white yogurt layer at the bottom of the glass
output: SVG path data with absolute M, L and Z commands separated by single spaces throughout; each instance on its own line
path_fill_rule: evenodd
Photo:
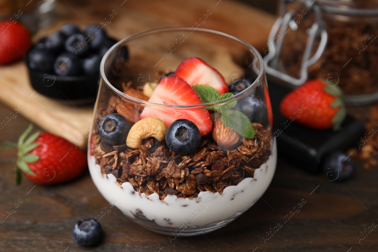
M 236 186 L 228 186 L 223 193 L 200 192 L 197 198 L 177 198 L 167 195 L 164 201 L 157 193 L 146 196 L 136 192 L 129 182 L 120 187 L 112 174 L 103 175 L 94 156 L 88 156 L 88 166 L 93 182 L 108 202 L 115 202 L 125 215 L 135 218 L 133 213 L 143 215 L 160 226 L 201 227 L 224 221 L 251 207 L 268 188 L 277 163 L 277 148 L 272 142 L 271 155 L 265 164 L 254 172 L 254 178 L 245 178 Z M 115 199 L 115 200 L 114 200 Z

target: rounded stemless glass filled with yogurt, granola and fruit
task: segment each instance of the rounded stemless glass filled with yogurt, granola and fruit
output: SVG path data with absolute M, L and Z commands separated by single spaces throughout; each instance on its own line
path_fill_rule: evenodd
M 120 57 L 125 51 L 129 53 L 127 60 Z M 217 69 L 228 85 L 235 80 L 251 85 L 226 99 L 204 104 L 165 102 L 166 97 L 175 100 L 175 92 L 180 90 L 160 93 L 165 104 L 146 101 L 161 76 L 175 71 L 189 57 L 203 59 Z M 155 29 L 116 43 L 103 57 L 100 73 L 88 166 L 102 196 L 126 216 L 174 239 L 219 229 L 263 195 L 276 169 L 277 150 L 271 138 L 273 114 L 263 60 L 253 46 L 209 29 Z M 221 112 L 220 107 L 232 111 Z M 146 111 L 147 119 L 153 119 L 143 125 Z M 223 124 L 222 114 L 241 114 L 235 111 L 245 117 L 235 117 L 232 127 L 242 132 L 252 125 L 254 134 L 249 138 Z M 136 123 L 128 132 L 127 145 L 122 139 L 107 144 L 98 134 L 98 128 L 108 120 L 104 117 L 114 113 L 124 116 L 130 126 Z M 195 115 L 191 121 L 200 131 L 202 120 L 212 122 L 211 131 L 201 132 L 198 147 L 188 154 L 170 150 L 165 132 L 147 132 L 161 130 L 154 124 L 156 117 L 169 126 L 172 121 L 166 117 L 187 119 L 188 114 Z M 243 125 L 245 118 L 248 123 Z M 145 139 L 132 146 L 129 137 Z M 207 182 L 199 181 L 197 175 L 206 177 Z

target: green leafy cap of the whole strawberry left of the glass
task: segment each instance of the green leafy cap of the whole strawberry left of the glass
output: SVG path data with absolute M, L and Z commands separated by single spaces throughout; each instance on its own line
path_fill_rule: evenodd
M 7 150 L 15 147 L 17 147 L 19 150 L 19 152 L 17 153 L 18 158 L 14 173 L 17 185 L 21 184 L 21 171 L 28 173 L 32 176 L 36 176 L 36 174 L 32 170 L 30 170 L 28 164 L 26 164 L 37 162 L 39 160 L 39 156 L 33 153 L 29 153 L 40 145 L 40 143 L 33 143 L 38 138 L 40 131 L 37 131 L 28 137 L 32 130 L 33 125 L 29 124 L 29 127 L 21 134 L 17 143 L 11 141 L 4 141 L 0 145 L 1 150 Z

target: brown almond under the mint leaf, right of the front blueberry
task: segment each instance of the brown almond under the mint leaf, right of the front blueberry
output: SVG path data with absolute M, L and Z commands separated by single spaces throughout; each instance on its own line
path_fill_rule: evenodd
M 220 148 L 228 148 L 236 145 L 240 135 L 231 128 L 227 128 L 220 117 L 215 119 L 212 136 Z

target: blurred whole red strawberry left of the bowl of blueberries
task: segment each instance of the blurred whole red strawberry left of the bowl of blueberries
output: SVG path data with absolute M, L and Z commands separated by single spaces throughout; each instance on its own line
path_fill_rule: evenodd
M 1 21 L 0 28 L 0 65 L 21 59 L 31 44 L 29 31 L 11 20 Z

